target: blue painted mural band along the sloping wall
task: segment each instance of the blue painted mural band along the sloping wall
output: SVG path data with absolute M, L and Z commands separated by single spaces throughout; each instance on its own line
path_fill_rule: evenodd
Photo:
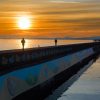
M 0 100 L 11 100 L 18 94 L 43 83 L 93 53 L 93 49 L 89 48 L 1 76 Z

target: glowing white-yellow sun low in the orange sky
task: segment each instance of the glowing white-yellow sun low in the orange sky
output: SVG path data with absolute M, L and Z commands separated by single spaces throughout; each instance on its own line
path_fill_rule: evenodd
M 21 16 L 18 18 L 18 27 L 20 29 L 29 29 L 31 26 L 31 21 L 28 16 Z

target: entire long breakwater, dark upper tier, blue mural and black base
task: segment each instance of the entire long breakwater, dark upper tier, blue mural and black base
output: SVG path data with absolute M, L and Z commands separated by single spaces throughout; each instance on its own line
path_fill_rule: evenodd
M 99 48 L 100 43 L 94 42 L 0 52 L 1 100 L 41 100 L 91 59 L 95 61 Z

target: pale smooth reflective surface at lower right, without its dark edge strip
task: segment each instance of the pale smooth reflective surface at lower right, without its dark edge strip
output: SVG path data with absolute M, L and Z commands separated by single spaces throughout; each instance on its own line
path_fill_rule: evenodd
M 57 100 L 100 100 L 100 58 Z

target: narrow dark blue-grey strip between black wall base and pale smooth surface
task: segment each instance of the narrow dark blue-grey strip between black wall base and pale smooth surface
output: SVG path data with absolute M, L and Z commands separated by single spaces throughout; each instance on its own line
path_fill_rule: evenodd
M 91 60 L 84 68 L 82 68 L 77 74 L 72 76 L 68 81 L 56 89 L 52 95 L 48 96 L 45 100 L 57 100 L 61 94 L 68 90 L 68 88 L 93 64 Z M 62 99 L 63 100 L 63 99 Z M 66 99 L 64 99 L 66 100 Z

